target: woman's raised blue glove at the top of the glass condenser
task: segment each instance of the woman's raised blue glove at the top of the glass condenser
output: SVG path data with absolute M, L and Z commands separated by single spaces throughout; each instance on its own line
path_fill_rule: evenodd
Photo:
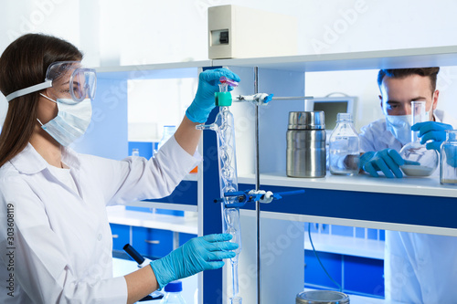
M 196 98 L 186 110 L 190 121 L 204 123 L 215 107 L 214 93 L 219 91 L 219 79 L 225 76 L 239 82 L 239 76 L 227 68 L 207 69 L 200 73 Z M 233 88 L 228 86 L 228 90 Z

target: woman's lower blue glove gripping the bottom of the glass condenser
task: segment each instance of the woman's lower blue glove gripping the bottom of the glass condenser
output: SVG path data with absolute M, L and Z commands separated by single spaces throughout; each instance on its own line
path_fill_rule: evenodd
M 236 256 L 233 251 L 227 251 L 238 248 L 238 244 L 228 242 L 231 238 L 228 234 L 194 237 L 166 257 L 152 261 L 151 267 L 160 289 L 176 279 L 223 267 L 222 259 Z

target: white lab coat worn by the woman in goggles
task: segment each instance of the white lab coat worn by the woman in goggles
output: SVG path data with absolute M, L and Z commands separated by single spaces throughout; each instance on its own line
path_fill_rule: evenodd
M 75 193 L 28 144 L 0 168 L 0 303 L 125 304 L 125 279 L 112 278 L 106 205 L 171 194 L 200 159 L 174 137 L 149 161 L 112 161 L 64 149 Z M 8 211 L 14 216 L 10 239 Z

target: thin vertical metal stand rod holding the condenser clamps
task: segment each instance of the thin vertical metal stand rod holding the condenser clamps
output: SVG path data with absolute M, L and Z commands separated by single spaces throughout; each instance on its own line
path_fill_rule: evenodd
M 259 93 L 259 68 L 254 68 L 254 94 Z M 259 157 L 259 105 L 256 104 L 255 114 L 255 174 L 256 174 L 256 191 L 260 190 L 260 157 Z M 260 299 L 260 202 L 256 202 L 256 257 L 257 257 L 257 303 L 261 303 Z

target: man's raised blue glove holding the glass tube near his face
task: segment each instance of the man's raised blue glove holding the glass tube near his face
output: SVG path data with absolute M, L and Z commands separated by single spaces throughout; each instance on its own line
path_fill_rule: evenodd
M 412 131 L 419 131 L 420 143 L 424 144 L 428 150 L 434 149 L 440 152 L 441 143 L 446 141 L 446 130 L 452 130 L 452 125 L 436 122 L 425 121 L 418 122 L 411 127 Z

